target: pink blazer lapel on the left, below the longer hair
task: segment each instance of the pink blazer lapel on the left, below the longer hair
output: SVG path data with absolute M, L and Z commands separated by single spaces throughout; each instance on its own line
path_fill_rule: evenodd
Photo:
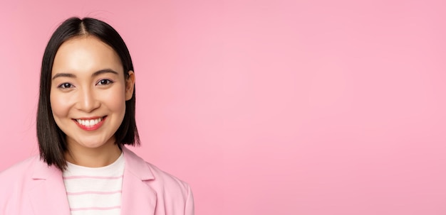
M 70 215 L 62 172 L 58 168 L 38 160 L 32 180 L 36 185 L 30 190 L 29 198 L 36 215 Z

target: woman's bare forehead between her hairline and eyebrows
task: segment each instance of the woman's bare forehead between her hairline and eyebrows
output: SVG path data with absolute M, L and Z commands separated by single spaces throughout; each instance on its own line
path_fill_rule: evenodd
M 62 43 L 54 57 L 55 72 L 95 72 L 103 69 L 123 71 L 118 54 L 94 36 L 72 38 Z

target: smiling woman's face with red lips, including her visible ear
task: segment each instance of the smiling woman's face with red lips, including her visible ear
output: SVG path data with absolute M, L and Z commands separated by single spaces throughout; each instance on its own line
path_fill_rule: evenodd
M 51 72 L 53 117 L 70 150 L 115 143 L 125 101 L 132 98 L 135 76 L 124 78 L 115 50 L 93 36 L 67 40 L 56 53 Z

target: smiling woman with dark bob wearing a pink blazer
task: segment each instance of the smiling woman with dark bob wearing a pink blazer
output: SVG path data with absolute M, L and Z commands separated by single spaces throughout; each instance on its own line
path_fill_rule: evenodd
M 69 18 L 48 42 L 37 114 L 40 156 L 0 173 L 0 214 L 194 214 L 188 184 L 145 162 L 135 73 L 107 23 Z

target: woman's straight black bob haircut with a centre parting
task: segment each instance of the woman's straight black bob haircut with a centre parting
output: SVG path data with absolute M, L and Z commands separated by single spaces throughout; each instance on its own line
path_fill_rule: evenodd
M 43 53 L 40 90 L 37 109 L 37 139 L 41 160 L 48 166 L 55 165 L 59 170 L 66 169 L 64 154 L 68 150 L 66 134 L 61 131 L 53 118 L 50 103 L 51 71 L 58 48 L 67 40 L 82 36 L 94 36 L 110 45 L 118 54 L 123 64 L 124 77 L 129 78 L 128 71 L 133 70 L 132 59 L 123 38 L 107 23 L 95 18 L 68 18 L 58 26 L 51 35 L 45 53 Z M 125 101 L 125 116 L 115 132 L 115 140 L 119 147 L 123 144 L 140 145 L 140 138 L 135 122 L 135 87 L 133 97 Z

